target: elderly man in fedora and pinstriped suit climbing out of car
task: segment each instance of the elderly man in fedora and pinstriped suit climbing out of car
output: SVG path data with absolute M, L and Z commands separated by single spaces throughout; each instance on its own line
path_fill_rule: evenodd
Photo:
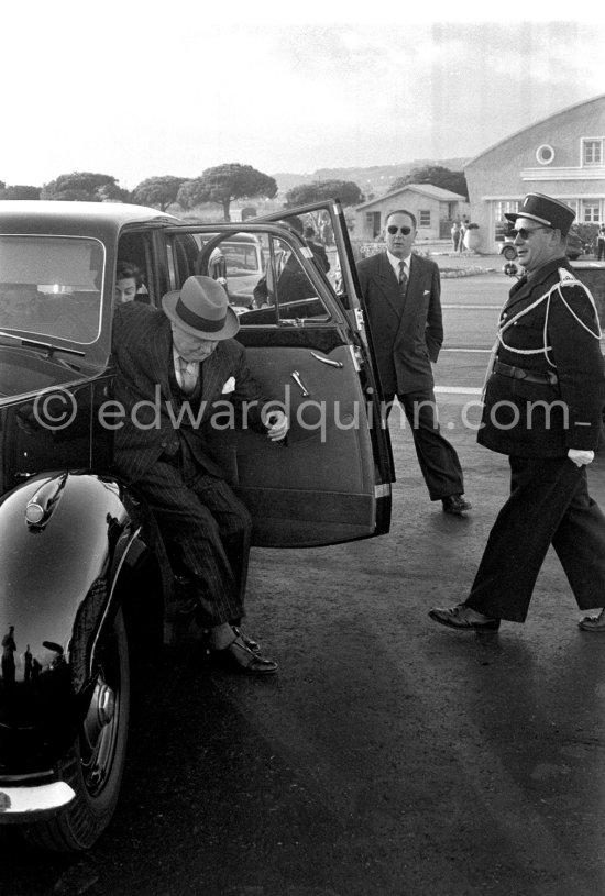
M 285 438 L 287 419 L 274 406 L 263 413 L 268 399 L 233 339 L 239 320 L 220 284 L 189 277 L 162 306 L 128 302 L 114 313 L 116 399 L 124 409 L 116 466 L 145 497 L 191 577 L 212 653 L 246 674 L 272 674 L 277 664 L 239 629 L 251 518 L 204 433 L 215 402 L 226 399 L 273 441 Z

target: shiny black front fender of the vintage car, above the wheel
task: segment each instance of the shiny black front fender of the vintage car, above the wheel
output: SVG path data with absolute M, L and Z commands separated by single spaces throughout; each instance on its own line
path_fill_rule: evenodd
M 117 479 L 67 472 L 4 495 L 0 532 L 0 774 L 28 774 L 86 714 L 99 634 L 153 533 Z

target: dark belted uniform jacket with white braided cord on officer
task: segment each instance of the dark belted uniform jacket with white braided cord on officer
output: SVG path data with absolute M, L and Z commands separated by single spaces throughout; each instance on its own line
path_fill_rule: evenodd
M 534 373 L 554 372 L 559 381 L 550 386 L 492 373 L 479 443 L 519 457 L 598 447 L 605 400 L 598 334 L 591 295 L 566 258 L 515 284 L 501 312 L 497 359 Z

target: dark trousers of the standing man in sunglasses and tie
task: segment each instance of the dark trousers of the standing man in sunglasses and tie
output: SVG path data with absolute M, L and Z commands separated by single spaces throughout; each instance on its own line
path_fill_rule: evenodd
M 385 396 L 389 413 L 394 398 L 394 395 Z M 404 392 L 397 395 L 397 400 L 411 427 L 416 455 L 431 501 L 438 501 L 449 495 L 462 495 L 464 491 L 462 467 L 455 450 L 447 439 L 443 439 L 439 430 L 433 390 Z

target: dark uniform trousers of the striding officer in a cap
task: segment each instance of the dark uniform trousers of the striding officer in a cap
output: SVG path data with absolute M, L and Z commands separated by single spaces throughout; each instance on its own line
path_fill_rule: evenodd
M 490 532 L 466 604 L 524 622 L 552 544 L 581 610 L 605 605 L 605 516 L 586 467 L 568 457 L 510 457 L 510 497 Z

